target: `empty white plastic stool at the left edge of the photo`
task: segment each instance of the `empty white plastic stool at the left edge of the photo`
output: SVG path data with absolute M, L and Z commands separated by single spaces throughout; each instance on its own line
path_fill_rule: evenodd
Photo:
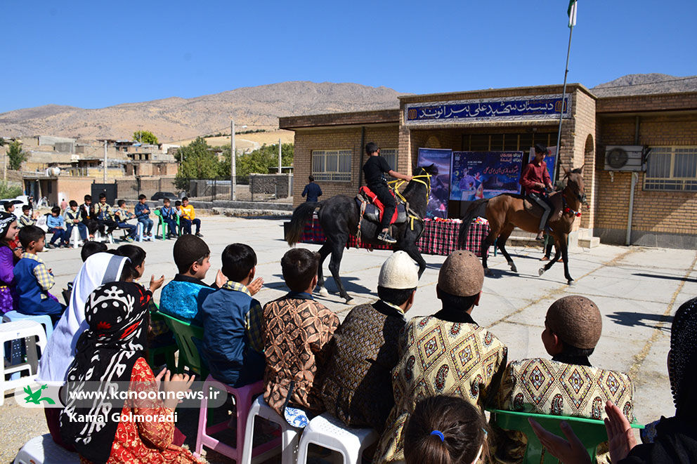
M 11 342 L 12 340 L 18 340 L 20 338 L 27 337 L 38 337 L 39 342 L 37 345 L 41 348 L 41 352 L 46 349 L 46 332 L 44 331 L 44 326 L 36 321 L 30 319 L 22 319 L 15 322 L 4 322 L 0 324 L 0 406 L 5 402 L 5 392 L 7 390 L 15 390 L 15 388 L 26 387 L 34 382 L 34 374 L 32 373 L 31 366 L 27 363 L 18 364 L 17 366 L 5 367 L 5 342 Z M 30 348 L 27 346 L 27 350 Z M 29 371 L 28 376 L 21 376 L 14 380 L 5 380 L 5 374 Z

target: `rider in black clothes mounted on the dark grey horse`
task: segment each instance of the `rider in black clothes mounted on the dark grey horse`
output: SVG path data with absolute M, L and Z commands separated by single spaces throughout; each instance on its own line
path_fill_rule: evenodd
M 382 202 L 384 211 L 382 213 L 382 232 L 377 234 L 377 239 L 386 241 L 389 244 L 397 243 L 389 234 L 390 220 L 394 214 L 397 203 L 387 187 L 385 174 L 391 175 L 394 178 L 403 180 L 412 180 L 412 176 L 408 174 L 400 174 L 397 171 L 392 171 L 387 161 L 380 156 L 380 147 L 377 143 L 370 142 L 365 145 L 365 153 L 368 155 L 368 160 L 363 165 L 363 175 L 365 175 L 365 185 L 375 194 Z

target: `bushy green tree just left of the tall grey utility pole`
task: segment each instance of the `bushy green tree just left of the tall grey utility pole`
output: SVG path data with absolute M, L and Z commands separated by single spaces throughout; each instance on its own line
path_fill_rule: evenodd
M 174 185 L 178 189 L 186 190 L 191 179 L 214 179 L 223 175 L 218 155 L 211 150 L 202 137 L 179 148 L 174 157 L 179 161 L 179 169 L 174 180 Z M 229 173 L 228 168 L 228 176 Z

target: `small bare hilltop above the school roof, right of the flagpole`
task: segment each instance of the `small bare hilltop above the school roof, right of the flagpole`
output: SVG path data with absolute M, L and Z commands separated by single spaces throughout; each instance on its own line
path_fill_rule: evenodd
M 591 90 L 599 97 L 694 92 L 697 91 L 697 76 L 678 77 L 658 73 L 627 74 L 613 81 L 599 84 Z

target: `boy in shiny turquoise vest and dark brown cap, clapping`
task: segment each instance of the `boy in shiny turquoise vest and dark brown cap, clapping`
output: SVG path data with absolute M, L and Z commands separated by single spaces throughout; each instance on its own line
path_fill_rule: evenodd
M 200 326 L 203 301 L 215 291 L 203 282 L 211 267 L 211 251 L 199 237 L 182 235 L 174 242 L 172 253 L 179 273 L 162 288 L 159 310 Z

